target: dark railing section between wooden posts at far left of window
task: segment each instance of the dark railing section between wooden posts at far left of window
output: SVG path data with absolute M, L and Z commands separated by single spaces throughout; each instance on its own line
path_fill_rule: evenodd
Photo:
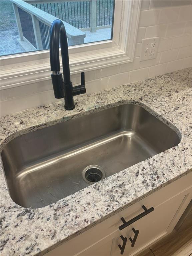
M 18 7 L 23 36 L 37 48 L 31 15 Z

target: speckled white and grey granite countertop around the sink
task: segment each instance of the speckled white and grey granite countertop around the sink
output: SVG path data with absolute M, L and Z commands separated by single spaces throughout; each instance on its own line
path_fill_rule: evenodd
M 1 118 L 1 150 L 21 134 L 123 103 L 150 108 L 177 127 L 181 142 L 39 209 L 12 201 L 0 163 L 1 256 L 43 255 L 192 170 L 192 68 L 81 95 L 75 103 L 73 111 L 64 110 L 61 101 Z

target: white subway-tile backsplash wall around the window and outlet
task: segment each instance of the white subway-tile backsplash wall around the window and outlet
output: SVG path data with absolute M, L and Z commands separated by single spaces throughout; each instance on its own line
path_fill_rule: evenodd
M 139 62 L 142 38 L 160 37 L 156 59 Z M 192 66 L 192 1 L 143 0 L 132 63 L 85 73 L 93 93 Z M 80 74 L 72 75 L 73 85 Z M 1 90 L 1 116 L 59 101 L 51 80 Z

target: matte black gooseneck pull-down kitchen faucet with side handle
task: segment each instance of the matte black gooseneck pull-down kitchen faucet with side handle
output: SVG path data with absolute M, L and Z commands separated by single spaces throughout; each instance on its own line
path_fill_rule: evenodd
M 59 62 L 59 39 L 61 45 L 61 57 L 63 65 L 63 78 L 60 72 Z M 56 99 L 65 98 L 65 109 L 73 110 L 75 108 L 73 96 L 86 93 L 85 74 L 81 72 L 81 85 L 73 87 L 70 78 L 69 54 L 67 35 L 65 26 L 61 20 L 55 20 L 52 23 L 50 31 L 50 63 L 51 79 Z

